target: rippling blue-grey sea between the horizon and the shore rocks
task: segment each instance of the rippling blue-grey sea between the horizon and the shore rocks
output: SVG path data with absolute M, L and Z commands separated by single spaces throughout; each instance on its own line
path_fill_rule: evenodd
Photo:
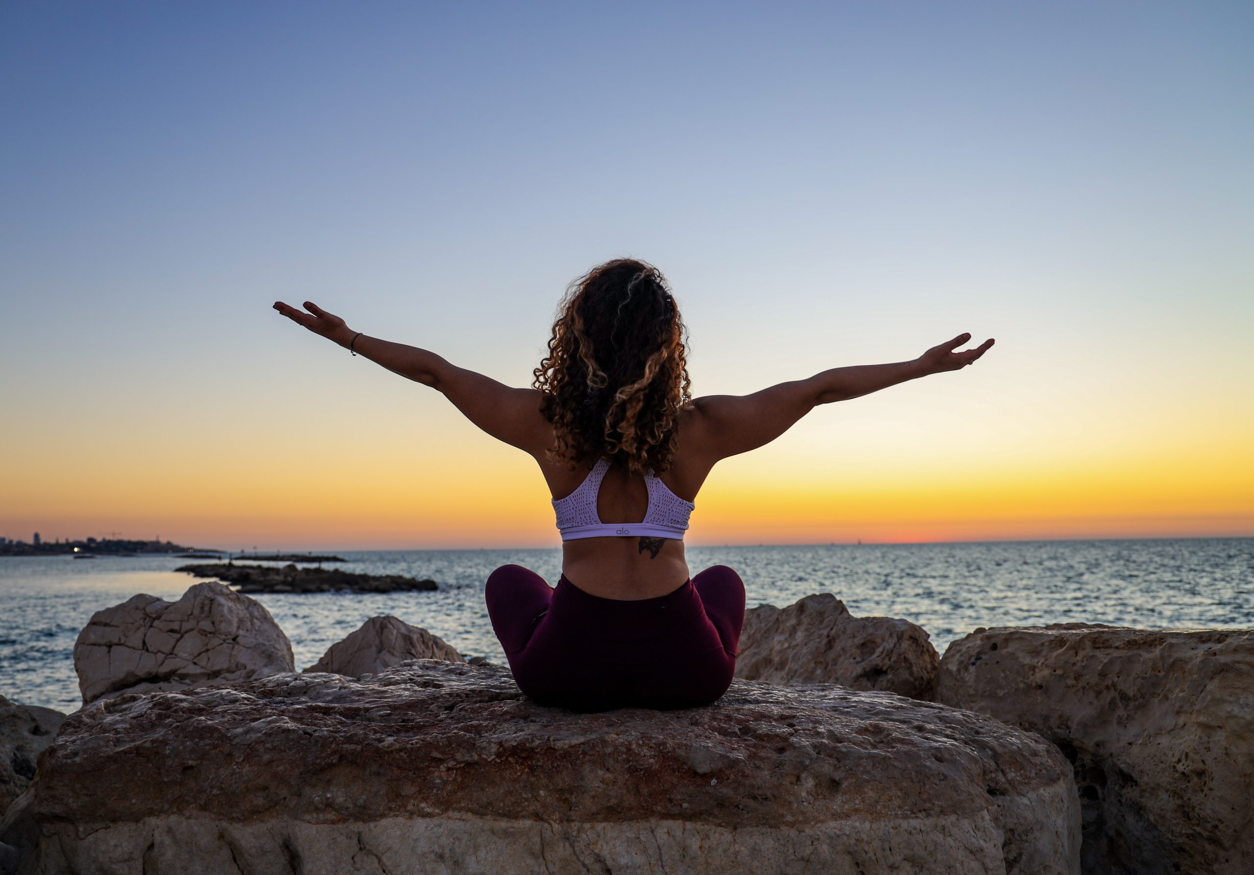
M 551 550 L 341 553 L 345 568 L 433 578 L 439 592 L 257 595 L 287 633 L 296 667 L 369 617 L 394 614 L 466 656 L 503 661 L 483 604 L 492 569 L 518 563 L 551 583 Z M 135 593 L 178 598 L 196 580 L 171 557 L 0 558 L 0 694 L 73 711 L 73 649 L 95 610 Z M 750 607 L 831 592 L 858 616 L 903 617 L 944 647 L 978 626 L 1100 622 L 1142 628 L 1254 626 L 1254 538 L 834 547 L 688 548 L 693 572 L 736 568 Z

